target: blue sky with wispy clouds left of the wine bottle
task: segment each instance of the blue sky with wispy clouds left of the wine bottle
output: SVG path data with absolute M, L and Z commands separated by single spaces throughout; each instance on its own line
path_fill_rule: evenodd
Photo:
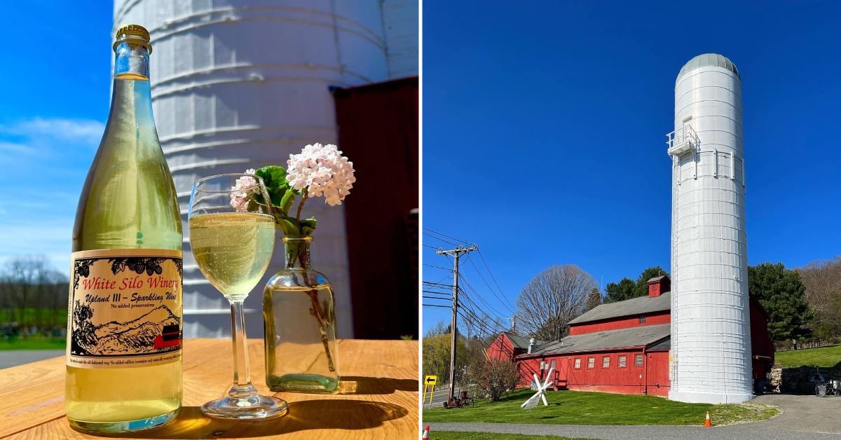
M 0 18 L 0 262 L 68 272 L 79 193 L 108 118 L 110 2 L 17 2 Z

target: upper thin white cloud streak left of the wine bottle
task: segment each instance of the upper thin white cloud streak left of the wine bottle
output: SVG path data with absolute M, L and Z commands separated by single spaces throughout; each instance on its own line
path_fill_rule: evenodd
M 105 125 L 93 119 L 33 118 L 0 125 L 0 133 L 6 135 L 77 141 L 94 146 L 102 138 L 104 130 Z

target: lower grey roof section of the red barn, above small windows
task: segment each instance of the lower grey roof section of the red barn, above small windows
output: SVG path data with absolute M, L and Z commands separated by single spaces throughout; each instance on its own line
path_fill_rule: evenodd
M 552 342 L 532 350 L 532 354 L 521 354 L 518 358 L 534 355 L 558 353 L 577 353 L 611 348 L 642 347 L 655 342 L 661 342 L 671 336 L 670 324 L 657 326 L 638 326 L 619 330 L 595 331 L 584 335 L 564 337 L 560 341 Z

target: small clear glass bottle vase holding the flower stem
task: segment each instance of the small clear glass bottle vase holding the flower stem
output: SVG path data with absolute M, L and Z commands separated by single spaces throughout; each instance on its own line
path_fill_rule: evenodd
M 309 262 L 311 236 L 284 236 L 286 267 L 263 291 L 266 384 L 272 391 L 339 390 L 333 288 Z

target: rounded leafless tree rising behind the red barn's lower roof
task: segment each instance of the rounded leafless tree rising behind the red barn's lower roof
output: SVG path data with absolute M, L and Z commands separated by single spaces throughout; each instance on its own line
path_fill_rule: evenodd
M 556 341 L 567 335 L 569 321 L 584 313 L 593 289 L 595 279 L 574 264 L 547 268 L 517 298 L 517 322 L 537 339 Z

